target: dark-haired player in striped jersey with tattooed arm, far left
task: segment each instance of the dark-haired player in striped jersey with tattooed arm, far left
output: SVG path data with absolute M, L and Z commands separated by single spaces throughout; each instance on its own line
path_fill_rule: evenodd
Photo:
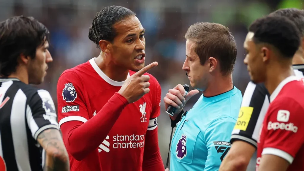
M 0 23 L 0 170 L 69 170 L 54 102 L 40 84 L 47 63 L 49 31 L 32 17 Z

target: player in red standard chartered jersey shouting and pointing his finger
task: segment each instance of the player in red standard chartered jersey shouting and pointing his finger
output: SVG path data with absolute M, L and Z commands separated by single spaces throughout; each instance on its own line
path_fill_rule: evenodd
M 101 53 L 57 84 L 58 121 L 71 171 L 164 171 L 158 147 L 161 87 L 144 67 L 145 39 L 130 9 L 95 16 L 89 38 Z

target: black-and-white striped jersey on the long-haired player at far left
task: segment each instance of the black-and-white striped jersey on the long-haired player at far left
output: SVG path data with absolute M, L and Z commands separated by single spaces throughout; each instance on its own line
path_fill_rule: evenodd
M 0 79 L 0 102 L 0 163 L 7 171 L 42 170 L 44 150 L 37 136 L 48 128 L 59 130 L 50 93 L 18 79 Z

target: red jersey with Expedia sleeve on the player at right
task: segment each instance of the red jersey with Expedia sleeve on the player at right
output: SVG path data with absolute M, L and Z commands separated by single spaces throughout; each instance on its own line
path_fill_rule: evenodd
M 295 76 L 283 80 L 270 96 L 257 140 L 257 165 L 265 154 L 290 163 L 287 170 L 304 170 L 304 84 Z

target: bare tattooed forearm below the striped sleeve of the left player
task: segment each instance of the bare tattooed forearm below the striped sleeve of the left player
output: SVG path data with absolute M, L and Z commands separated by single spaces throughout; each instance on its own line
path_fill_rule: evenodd
M 65 149 L 60 132 L 49 128 L 41 132 L 37 141 L 46 152 L 45 171 L 69 171 L 69 156 Z

